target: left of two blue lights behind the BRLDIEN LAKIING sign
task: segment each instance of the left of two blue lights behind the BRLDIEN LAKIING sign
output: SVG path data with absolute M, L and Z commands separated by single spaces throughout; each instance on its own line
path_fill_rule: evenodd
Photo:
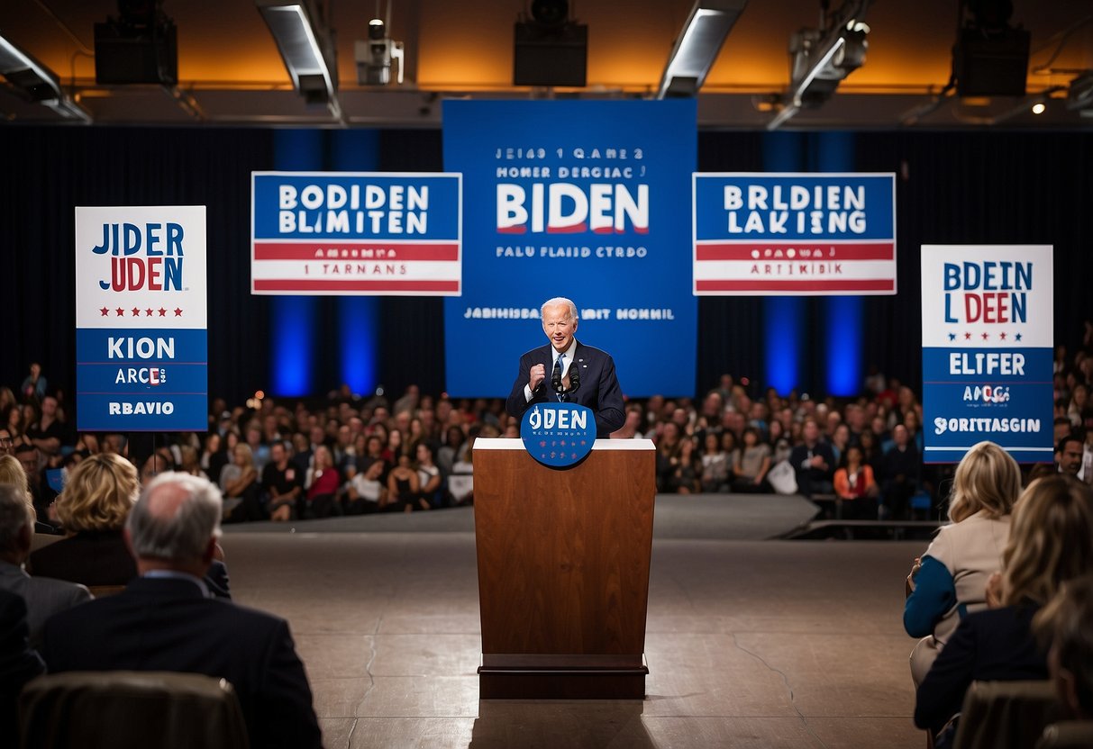
M 766 171 L 800 171 L 803 167 L 803 135 L 775 131 L 763 135 L 763 165 Z M 804 299 L 763 298 L 763 350 L 766 382 L 780 395 L 801 382 L 801 350 L 808 346 L 801 332 Z

